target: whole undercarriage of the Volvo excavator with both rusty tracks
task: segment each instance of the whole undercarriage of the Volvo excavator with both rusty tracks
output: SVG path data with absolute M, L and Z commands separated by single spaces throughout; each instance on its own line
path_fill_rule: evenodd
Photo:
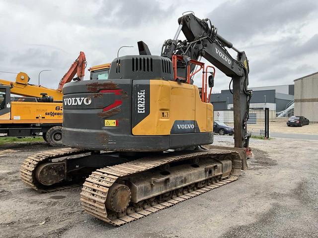
M 50 150 L 28 157 L 20 175 L 41 192 L 79 186 L 89 175 L 80 193 L 84 210 L 121 226 L 238 179 L 242 161 L 237 151 L 202 148 L 133 157 Z

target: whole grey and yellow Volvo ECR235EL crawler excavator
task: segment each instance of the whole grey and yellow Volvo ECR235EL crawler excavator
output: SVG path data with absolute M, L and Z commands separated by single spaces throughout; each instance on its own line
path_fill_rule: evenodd
M 70 148 L 28 157 L 20 170 L 27 185 L 49 192 L 85 177 L 83 209 L 121 226 L 239 178 L 249 142 L 247 57 L 209 19 L 191 12 L 178 23 L 160 56 L 140 41 L 139 55 L 113 60 L 107 79 L 65 85 L 63 143 Z M 181 31 L 186 40 L 178 40 Z M 234 148 L 211 145 L 207 86 L 214 86 L 215 67 L 201 57 L 232 78 Z

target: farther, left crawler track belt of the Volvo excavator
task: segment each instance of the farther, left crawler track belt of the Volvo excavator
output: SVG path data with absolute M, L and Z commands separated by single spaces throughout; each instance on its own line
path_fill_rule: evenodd
M 39 164 L 50 161 L 52 159 L 62 158 L 65 156 L 79 155 L 79 154 L 84 154 L 87 152 L 89 151 L 80 150 L 80 149 L 72 149 L 72 148 L 63 148 L 63 149 L 48 150 L 48 151 L 36 153 L 34 155 L 29 156 L 23 161 L 22 166 L 20 168 L 20 177 L 26 185 L 40 192 L 53 192 L 53 191 L 63 190 L 66 188 L 81 186 L 81 184 L 75 183 L 75 184 L 65 185 L 65 186 L 46 187 L 39 184 L 36 181 L 36 179 L 34 178 L 34 171 Z

